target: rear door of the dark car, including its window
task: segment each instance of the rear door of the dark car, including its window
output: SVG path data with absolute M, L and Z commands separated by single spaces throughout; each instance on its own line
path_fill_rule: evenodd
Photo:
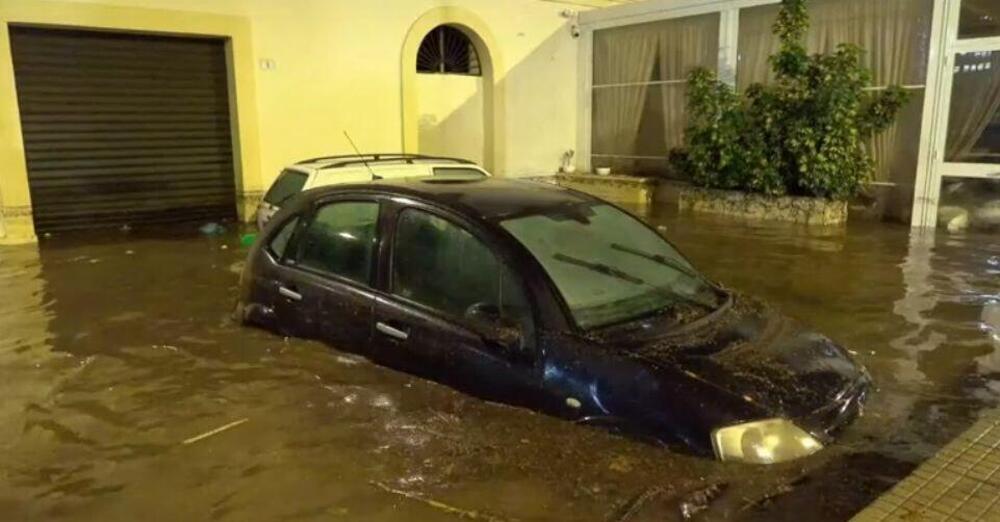
M 365 353 L 371 336 L 379 203 L 320 202 L 296 232 L 275 281 L 278 323 L 289 333 Z

